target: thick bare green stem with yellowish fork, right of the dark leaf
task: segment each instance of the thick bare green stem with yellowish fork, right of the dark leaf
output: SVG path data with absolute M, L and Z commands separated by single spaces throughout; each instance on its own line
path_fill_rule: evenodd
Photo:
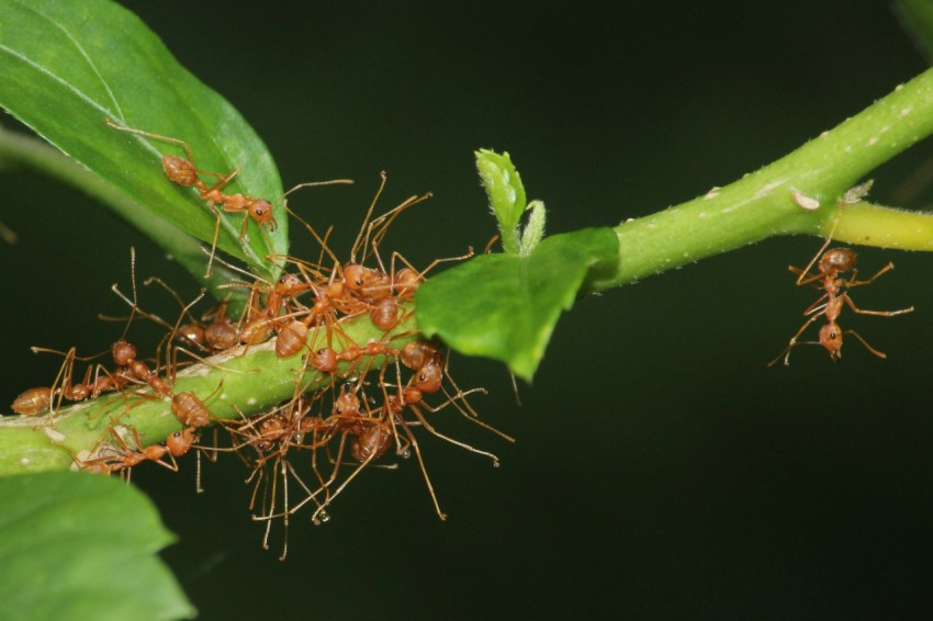
M 595 290 L 619 286 L 775 235 L 825 236 L 846 190 L 931 133 L 933 69 L 726 188 L 618 225 L 618 271 L 596 282 Z M 857 203 L 843 205 L 839 217 L 833 234 L 839 241 L 933 250 L 933 215 Z

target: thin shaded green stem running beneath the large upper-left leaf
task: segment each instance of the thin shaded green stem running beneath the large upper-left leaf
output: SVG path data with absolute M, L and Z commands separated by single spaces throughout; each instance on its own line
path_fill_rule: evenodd
M 114 185 L 76 163 L 61 151 L 49 147 L 44 140 L 10 132 L 0 126 L 0 168 L 15 167 L 47 174 L 100 201 L 165 248 L 199 282 L 203 283 L 215 300 L 232 296 L 245 298 L 245 294 L 232 292 L 229 287 L 222 287 L 238 279 L 237 274 L 223 263 L 214 261 L 211 278 L 205 282 L 204 266 L 207 262 L 207 256 L 195 238 L 154 216 L 150 211 L 143 208 Z M 232 310 L 235 310 L 233 306 Z

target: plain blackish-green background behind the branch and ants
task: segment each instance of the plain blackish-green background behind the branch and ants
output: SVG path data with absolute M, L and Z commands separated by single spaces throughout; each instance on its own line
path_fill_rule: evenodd
M 477 147 L 513 154 L 550 233 L 615 225 L 785 155 L 925 66 L 880 2 L 126 4 L 243 112 L 285 187 L 357 180 L 293 203 L 337 225 L 337 248 L 380 170 L 383 206 L 432 191 L 387 242 L 416 264 L 493 234 Z M 873 196 L 922 206 L 897 193 L 931 155 L 921 144 L 877 171 Z M 20 236 L 0 245 L 3 403 L 55 374 L 29 346 L 100 351 L 119 336 L 95 315 L 124 312 L 109 286 L 128 286 L 131 245 L 140 276 L 195 291 L 85 197 L 22 173 L 0 184 Z M 236 460 L 206 470 L 204 496 L 192 461 L 136 468 L 180 535 L 165 557 L 202 619 L 919 616 L 933 603 L 933 258 L 859 250 L 865 272 L 897 263 L 859 304 L 917 307 L 843 316 L 888 360 L 850 339 L 839 363 L 800 348 L 769 369 L 813 298 L 787 264 L 820 241 L 580 301 L 520 408 L 501 365 L 456 359 L 461 385 L 491 392 L 474 402 L 484 420 L 518 442 L 438 416 L 503 461 L 423 441 L 446 523 L 412 460 L 363 473 L 326 526 L 300 515 L 280 563 L 281 531 L 263 552 Z

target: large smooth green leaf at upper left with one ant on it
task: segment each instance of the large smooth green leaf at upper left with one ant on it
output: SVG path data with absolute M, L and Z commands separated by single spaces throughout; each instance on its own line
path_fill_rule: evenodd
M 162 170 L 161 155 L 184 156 L 183 148 L 117 132 L 104 117 L 186 140 L 201 170 L 240 168 L 224 191 L 269 200 L 279 226 L 270 233 L 249 223 L 244 245 L 243 215 L 225 214 L 217 246 L 277 273 L 266 257 L 288 252 L 288 219 L 271 156 L 239 113 L 179 65 L 133 13 L 108 0 L 0 0 L 0 105 L 135 201 L 138 208 L 117 211 L 144 230 L 168 221 L 210 242 L 216 217 L 196 190 L 177 185 Z

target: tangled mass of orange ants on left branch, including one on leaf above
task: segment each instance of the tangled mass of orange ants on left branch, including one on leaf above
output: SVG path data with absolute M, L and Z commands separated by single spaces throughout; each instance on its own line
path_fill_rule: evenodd
M 223 193 L 223 188 L 238 170 L 228 174 L 202 171 L 195 167 L 190 148 L 181 140 L 114 127 L 181 145 L 188 159 L 162 158 L 168 179 L 182 187 L 194 187 L 218 218 L 215 205 L 224 211 L 243 211 L 246 215 L 241 235 L 248 218 L 260 225 L 274 225 L 271 211 L 266 208 L 267 201 Z M 215 177 L 220 181 L 207 187 L 201 176 Z M 414 294 L 425 274 L 439 262 L 472 256 L 472 250 L 464 257 L 436 260 L 420 271 L 394 252 L 386 267 L 379 245 L 389 226 L 400 213 L 429 195 L 412 196 L 372 218 L 384 184 L 383 173 L 379 192 L 346 262 L 338 260 L 328 248 L 329 229 L 319 236 L 311 225 L 290 212 L 321 244 L 321 256 L 316 262 L 272 257 L 281 259 L 284 267 L 284 275 L 277 281 L 254 278 L 229 283 L 227 286 L 232 290 L 246 290 L 246 303 L 238 318 L 229 316 L 226 302 L 195 318 L 191 308 L 203 297 L 203 292 L 184 304 L 158 279 L 149 279 L 146 283 L 155 282 L 166 287 L 181 306 L 181 313 L 170 324 L 143 310 L 136 301 L 134 260 L 133 300 L 115 285 L 114 291 L 132 308 L 126 329 L 136 315 L 167 328 L 156 351 L 155 366 L 138 357 L 137 348 L 125 338 L 125 329 L 110 349 L 113 366 L 95 363 L 88 366 L 78 381 L 76 362 L 95 357 L 79 358 L 74 348 L 56 352 L 65 360 L 52 385 L 25 391 L 13 402 L 13 410 L 25 417 L 48 415 L 54 426 L 64 402 L 105 397 L 116 403 L 119 407 L 104 415 L 108 417 L 103 424 L 104 437 L 93 450 L 72 455 L 75 467 L 86 471 L 120 473 L 128 478 L 133 467 L 147 461 L 177 471 L 177 458 L 192 449 L 199 456 L 204 453 L 211 459 L 225 452 L 238 455 L 251 470 L 247 479 L 254 485 L 249 507 L 255 520 L 266 522 L 265 546 L 268 546 L 272 522 L 281 519 L 288 529 L 290 518 L 305 506 L 313 508 L 315 523 L 328 520 L 327 508 L 347 485 L 376 460 L 393 452 L 402 458 L 415 454 L 435 510 L 440 519 L 446 519 L 414 430 L 423 428 L 446 442 L 488 458 L 493 465 L 498 465 L 494 454 L 442 433 L 428 420 L 430 415 L 450 408 L 506 440 L 513 440 L 481 421 L 469 404 L 466 397 L 485 393 L 484 388 L 461 389 L 450 377 L 448 360 L 435 343 L 418 339 L 416 330 L 400 331 L 400 327 L 411 324 Z M 376 263 L 374 267 L 366 264 L 371 259 Z M 210 261 L 213 260 L 212 249 Z M 368 321 L 381 336 L 358 342 L 345 329 L 348 321 Z M 216 416 L 207 404 L 222 389 L 223 381 L 210 395 L 176 389 L 179 368 L 194 363 L 180 362 L 179 353 L 203 365 L 224 370 L 221 366 L 224 361 L 244 355 L 250 348 L 267 341 L 273 341 L 278 359 L 297 361 L 294 386 L 284 403 L 259 414 L 249 408 L 249 415 L 237 404 L 229 404 L 235 413 L 233 417 Z M 306 382 L 307 374 L 313 374 L 317 381 Z M 113 396 L 108 397 L 109 393 Z M 225 396 L 222 394 L 220 398 Z M 144 442 L 136 428 L 126 422 L 125 416 L 144 400 L 165 403 L 171 411 L 177 429 L 164 443 Z M 220 445 L 215 433 L 212 444 L 200 443 L 209 426 L 225 431 L 229 442 Z M 305 478 L 313 483 L 308 484 Z M 200 492 L 200 477 L 198 488 Z M 296 488 L 301 498 L 294 501 Z M 288 531 L 282 558 L 286 552 Z

